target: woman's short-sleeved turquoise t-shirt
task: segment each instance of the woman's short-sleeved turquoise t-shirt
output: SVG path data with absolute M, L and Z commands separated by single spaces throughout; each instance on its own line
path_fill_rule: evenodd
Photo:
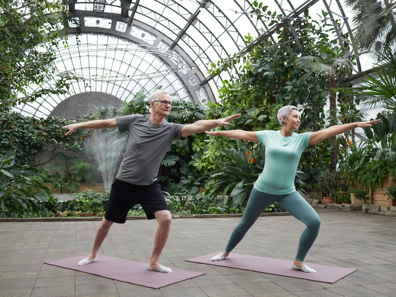
M 296 191 L 294 179 L 302 151 L 309 144 L 310 133 L 282 136 L 280 131 L 257 131 L 257 139 L 265 146 L 264 170 L 254 188 L 257 191 L 286 195 Z

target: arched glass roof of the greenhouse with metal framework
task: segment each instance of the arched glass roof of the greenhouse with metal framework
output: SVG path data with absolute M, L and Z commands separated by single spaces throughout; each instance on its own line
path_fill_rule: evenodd
M 149 94 L 157 86 L 169 91 L 174 99 L 204 103 L 218 100 L 217 90 L 222 80 L 237 77 L 236 67 L 215 77 L 207 74 L 209 64 L 227 58 L 236 52 L 248 52 L 244 36 L 268 34 L 276 43 L 274 27 L 291 25 L 291 20 L 303 15 L 309 9 L 314 20 L 320 20 L 321 11 L 329 13 L 334 24 L 341 24 L 341 32 L 351 34 L 347 15 L 339 0 L 270 0 L 268 10 L 276 11 L 282 17 L 271 28 L 270 19 L 257 20 L 248 0 L 68 0 L 68 28 L 71 37 L 69 49 L 59 49 L 55 63 L 58 73 L 68 71 L 85 79 L 73 81 L 72 94 L 96 91 L 129 101 L 144 91 Z M 267 10 L 267 11 L 268 11 Z M 271 30 L 270 30 L 271 29 Z M 276 30 L 275 30 L 276 31 Z M 340 32 L 335 38 L 344 42 Z M 80 45 L 116 45 L 121 50 L 76 50 L 76 37 Z M 296 41 L 298 40 L 298 36 Z M 128 50 L 148 46 L 159 54 Z M 163 58 L 161 52 L 171 50 L 182 61 L 178 63 Z M 355 72 L 361 71 L 360 64 Z M 363 69 L 364 70 L 364 69 Z M 89 76 L 127 77 L 130 74 L 159 73 L 160 77 L 136 76 L 129 80 L 87 80 Z M 50 83 L 50 82 L 49 82 Z M 31 86 L 32 91 L 36 86 Z M 74 94 L 73 94 L 74 93 Z M 16 109 L 36 116 L 49 115 L 50 111 L 66 96 L 39 99 L 34 103 L 21 104 Z

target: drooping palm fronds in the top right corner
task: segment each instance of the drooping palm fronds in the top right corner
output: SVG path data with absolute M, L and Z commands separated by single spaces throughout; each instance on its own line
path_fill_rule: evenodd
M 354 11 L 354 47 L 359 53 L 377 55 L 384 48 L 396 49 L 395 0 L 345 0 Z

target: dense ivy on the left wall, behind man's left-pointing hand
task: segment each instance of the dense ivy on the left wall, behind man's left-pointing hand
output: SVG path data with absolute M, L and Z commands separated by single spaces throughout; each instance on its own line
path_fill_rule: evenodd
M 77 141 L 87 131 L 80 131 L 64 136 L 65 130 L 61 127 L 68 125 L 70 121 L 48 117 L 36 119 L 26 117 L 20 113 L 0 113 L 0 153 L 4 154 L 10 149 L 15 149 L 16 161 L 23 164 L 33 164 L 34 156 L 42 148 L 47 147 L 55 150 L 72 150 L 79 152 L 80 143 Z M 67 141 L 63 144 L 60 140 Z

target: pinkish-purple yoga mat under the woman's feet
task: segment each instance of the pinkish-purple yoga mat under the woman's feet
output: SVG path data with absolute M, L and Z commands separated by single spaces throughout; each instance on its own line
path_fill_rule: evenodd
M 351 274 L 352 272 L 357 270 L 355 268 L 344 268 L 306 263 L 310 268 L 315 269 L 317 272 L 306 273 L 301 270 L 292 269 L 293 262 L 290 260 L 242 255 L 237 253 L 230 253 L 230 258 L 224 259 L 222 261 L 210 260 L 211 257 L 218 255 L 219 253 L 220 252 L 215 252 L 210 255 L 187 259 L 186 261 L 289 276 L 330 284 L 334 284 L 335 282 L 346 277 L 348 274 Z

